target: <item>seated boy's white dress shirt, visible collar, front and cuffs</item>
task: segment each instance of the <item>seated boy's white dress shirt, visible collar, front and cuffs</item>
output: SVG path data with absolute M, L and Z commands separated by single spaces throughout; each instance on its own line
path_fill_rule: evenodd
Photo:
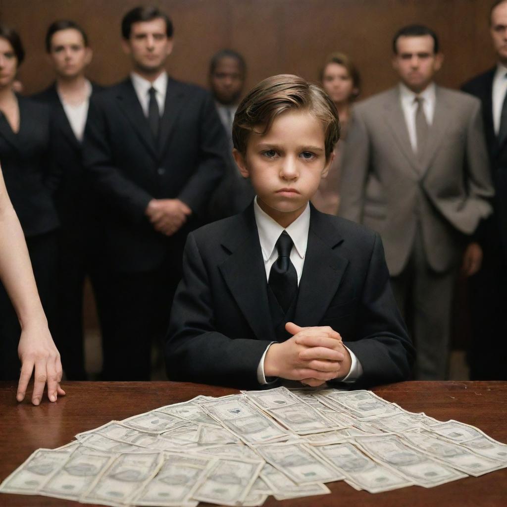
M 265 211 L 261 209 L 257 203 L 257 197 L 253 202 L 253 212 L 255 213 L 255 220 L 257 222 L 257 230 L 259 231 L 259 241 L 261 243 L 262 257 L 264 259 L 264 267 L 266 268 L 266 279 L 269 280 L 269 273 L 271 266 L 278 259 L 278 251 L 276 249 L 276 242 L 283 231 L 286 231 L 294 243 L 291 250 L 291 262 L 296 268 L 298 275 L 298 285 L 303 273 L 303 265 L 305 262 L 306 247 L 308 244 L 308 231 L 310 229 L 310 205 L 307 204 L 305 210 L 298 216 L 298 218 L 284 229 L 278 222 L 274 221 Z M 273 342 L 275 343 L 275 342 Z M 257 380 L 260 384 L 267 384 L 266 376 L 264 375 L 264 359 L 266 352 L 271 344 L 268 345 L 264 354 L 259 361 L 257 368 Z M 344 345 L 345 346 L 345 345 Z M 353 382 L 363 374 L 363 367 L 355 354 L 345 347 L 352 359 L 350 371 L 342 382 Z

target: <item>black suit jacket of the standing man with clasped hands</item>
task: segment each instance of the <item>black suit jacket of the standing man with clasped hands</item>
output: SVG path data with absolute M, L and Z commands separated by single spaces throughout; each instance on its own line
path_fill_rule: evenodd
M 158 146 L 130 78 L 92 97 L 83 158 L 108 206 L 112 267 L 154 269 L 178 250 L 185 230 L 169 238 L 156 232 L 144 215 L 146 207 L 153 198 L 179 198 L 195 219 L 222 176 L 225 156 L 215 106 L 197 86 L 169 78 Z M 180 262 L 180 249 L 178 255 Z

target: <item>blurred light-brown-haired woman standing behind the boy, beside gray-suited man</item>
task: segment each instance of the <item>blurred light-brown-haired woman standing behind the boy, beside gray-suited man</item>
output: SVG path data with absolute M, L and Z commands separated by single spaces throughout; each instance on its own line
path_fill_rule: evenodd
M 340 175 L 347 131 L 353 121 L 352 103 L 360 92 L 359 72 L 343 53 L 332 53 L 325 60 L 320 82 L 336 105 L 340 119 L 340 140 L 337 142 L 329 173 L 320 181 L 312 204 L 322 213 L 338 214 L 340 206 Z

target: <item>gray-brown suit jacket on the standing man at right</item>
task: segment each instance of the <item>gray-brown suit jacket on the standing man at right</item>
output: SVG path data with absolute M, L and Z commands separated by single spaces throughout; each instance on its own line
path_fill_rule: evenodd
M 342 163 L 339 214 L 382 236 L 391 276 L 405 267 L 417 223 L 426 257 L 443 272 L 459 262 L 493 195 L 481 105 L 437 87 L 422 162 L 412 151 L 399 87 L 354 107 Z

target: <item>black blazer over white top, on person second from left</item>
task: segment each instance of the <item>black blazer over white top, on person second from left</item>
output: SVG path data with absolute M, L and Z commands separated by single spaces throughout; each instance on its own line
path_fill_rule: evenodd
M 92 83 L 91 96 L 102 89 Z M 82 235 L 83 227 L 90 227 L 90 217 L 99 212 L 97 200 L 90 191 L 88 178 L 85 177 L 82 142 L 76 138 L 70 126 L 56 90 L 56 83 L 32 98 L 48 104 L 51 110 L 55 147 L 52 157 L 58 174 L 54 198 L 60 223 L 71 233 Z

